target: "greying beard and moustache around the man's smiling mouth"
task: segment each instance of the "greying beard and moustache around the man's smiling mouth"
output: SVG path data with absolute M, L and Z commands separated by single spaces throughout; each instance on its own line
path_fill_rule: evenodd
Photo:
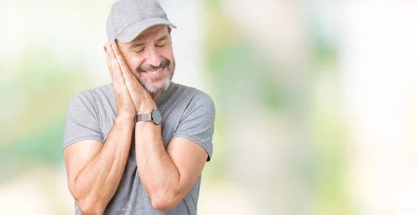
M 142 76 L 142 71 L 161 69 L 163 67 L 166 67 L 167 69 L 166 75 L 163 74 L 160 77 L 150 78 L 150 80 Z M 151 95 L 164 92 L 166 89 L 168 89 L 168 87 L 170 87 L 172 76 L 174 76 L 174 71 L 175 71 L 175 60 L 172 60 L 172 63 L 171 63 L 170 60 L 167 60 L 166 58 L 163 58 L 163 60 L 161 61 L 161 64 L 158 67 L 154 67 L 152 65 L 142 65 L 136 69 L 136 72 L 139 75 L 139 78 L 138 78 L 139 83 Z M 153 84 L 153 82 L 159 82 L 160 80 L 163 80 L 163 85 L 161 87 L 157 87 Z

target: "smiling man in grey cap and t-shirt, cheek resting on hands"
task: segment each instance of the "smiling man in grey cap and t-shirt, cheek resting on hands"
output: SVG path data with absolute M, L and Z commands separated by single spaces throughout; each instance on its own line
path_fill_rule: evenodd
M 197 214 L 215 109 L 210 96 L 171 82 L 171 27 L 157 1 L 111 8 L 104 50 L 113 84 L 76 94 L 67 109 L 76 214 Z

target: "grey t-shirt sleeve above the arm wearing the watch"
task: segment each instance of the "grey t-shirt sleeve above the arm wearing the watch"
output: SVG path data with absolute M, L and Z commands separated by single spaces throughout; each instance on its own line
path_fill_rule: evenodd
M 195 141 L 202 146 L 207 154 L 207 161 L 213 155 L 215 106 L 207 94 L 194 96 L 183 112 L 174 137 L 183 137 Z

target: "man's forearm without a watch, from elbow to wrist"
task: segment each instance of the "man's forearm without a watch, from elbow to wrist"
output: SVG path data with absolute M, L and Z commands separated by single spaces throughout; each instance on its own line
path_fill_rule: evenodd
M 81 169 L 73 195 L 80 209 L 102 214 L 122 178 L 131 146 L 133 119 L 116 118 L 103 148 Z

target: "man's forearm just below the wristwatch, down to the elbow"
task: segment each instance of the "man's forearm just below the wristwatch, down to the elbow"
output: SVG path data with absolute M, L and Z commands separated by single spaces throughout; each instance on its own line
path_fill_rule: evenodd
M 178 203 L 177 190 L 180 175 L 174 162 L 167 154 L 161 137 L 161 125 L 149 121 L 136 123 L 136 163 L 140 181 L 144 185 L 152 206 L 164 210 L 163 199 Z

